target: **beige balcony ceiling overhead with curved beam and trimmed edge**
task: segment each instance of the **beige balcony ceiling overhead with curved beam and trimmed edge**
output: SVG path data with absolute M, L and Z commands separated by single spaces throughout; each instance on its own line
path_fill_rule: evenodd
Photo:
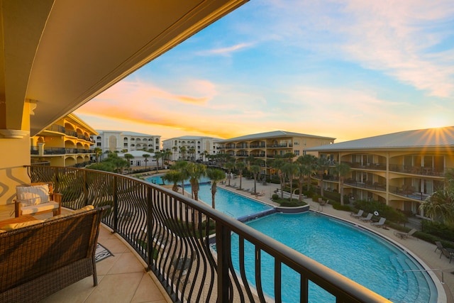
M 0 129 L 31 101 L 34 136 L 246 1 L 0 0 Z

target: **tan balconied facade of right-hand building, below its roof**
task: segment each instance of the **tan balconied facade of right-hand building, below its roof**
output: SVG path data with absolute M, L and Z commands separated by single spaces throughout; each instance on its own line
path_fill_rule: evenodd
M 324 190 L 339 191 L 333 166 L 344 162 L 351 168 L 343 186 L 350 200 L 373 199 L 421 216 L 421 201 L 443 188 L 445 171 L 454 168 L 454 155 L 448 147 L 330 151 L 319 157 L 331 161 Z

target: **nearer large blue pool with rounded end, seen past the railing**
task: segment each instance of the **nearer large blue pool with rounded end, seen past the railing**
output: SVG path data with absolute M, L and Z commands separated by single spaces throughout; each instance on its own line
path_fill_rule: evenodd
M 392 243 L 358 226 L 312 211 L 272 214 L 247 224 L 391 301 L 437 302 L 436 286 L 426 272 L 404 272 L 423 269 L 416 260 Z M 232 258 L 238 270 L 237 235 L 232 236 Z M 247 243 L 245 265 L 248 281 L 252 284 L 254 258 L 254 247 Z M 263 290 L 272 297 L 274 260 L 266 253 L 262 254 L 261 274 Z M 299 288 L 293 287 L 295 281 L 299 281 L 299 275 L 283 266 L 283 302 L 299 302 Z M 335 302 L 335 299 L 310 283 L 309 302 Z

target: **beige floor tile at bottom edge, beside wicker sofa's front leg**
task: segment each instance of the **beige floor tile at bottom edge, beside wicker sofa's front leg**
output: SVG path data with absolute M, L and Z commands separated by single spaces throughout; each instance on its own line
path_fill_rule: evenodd
M 101 261 L 102 262 L 102 261 Z M 128 303 L 137 290 L 143 272 L 106 275 L 85 303 Z

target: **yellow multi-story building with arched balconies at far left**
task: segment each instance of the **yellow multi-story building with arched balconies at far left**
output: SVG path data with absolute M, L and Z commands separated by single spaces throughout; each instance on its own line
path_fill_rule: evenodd
M 94 155 L 94 141 L 98 133 L 74 114 L 59 119 L 31 140 L 31 162 L 52 166 L 83 167 Z

